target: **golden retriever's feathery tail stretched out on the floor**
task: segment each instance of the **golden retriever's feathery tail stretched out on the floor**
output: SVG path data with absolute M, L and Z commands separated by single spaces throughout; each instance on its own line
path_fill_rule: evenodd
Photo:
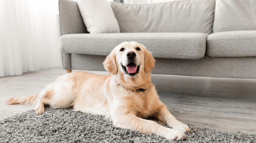
M 24 96 L 24 97 L 9 98 L 5 104 L 6 105 L 25 104 L 28 106 L 34 106 L 37 101 L 38 95 L 39 95 L 39 93 L 36 95 L 28 95 L 28 96 Z

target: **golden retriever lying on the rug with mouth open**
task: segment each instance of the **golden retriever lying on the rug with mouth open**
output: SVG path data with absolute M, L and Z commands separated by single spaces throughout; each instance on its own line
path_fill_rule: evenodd
M 28 104 L 36 114 L 52 108 L 72 108 L 111 119 L 113 125 L 160 135 L 166 139 L 184 139 L 190 128 L 178 121 L 160 100 L 151 82 L 150 72 L 155 59 L 146 47 L 137 42 L 116 46 L 103 62 L 111 74 L 96 75 L 77 71 L 67 73 L 47 85 L 39 94 L 10 98 L 10 104 Z M 166 123 L 166 128 L 152 117 Z

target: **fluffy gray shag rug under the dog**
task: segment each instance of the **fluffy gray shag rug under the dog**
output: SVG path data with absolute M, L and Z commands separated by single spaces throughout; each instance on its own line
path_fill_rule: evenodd
M 0 142 L 256 142 L 256 135 L 253 134 L 218 132 L 189 126 L 192 131 L 186 134 L 185 140 L 172 141 L 115 127 L 110 120 L 100 115 L 46 108 L 46 112 L 41 115 L 29 110 L 1 120 Z

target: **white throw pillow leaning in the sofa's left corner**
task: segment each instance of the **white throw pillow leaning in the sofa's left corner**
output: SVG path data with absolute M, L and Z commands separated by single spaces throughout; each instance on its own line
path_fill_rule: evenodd
M 88 32 L 120 32 L 115 14 L 106 0 L 77 0 L 77 4 Z

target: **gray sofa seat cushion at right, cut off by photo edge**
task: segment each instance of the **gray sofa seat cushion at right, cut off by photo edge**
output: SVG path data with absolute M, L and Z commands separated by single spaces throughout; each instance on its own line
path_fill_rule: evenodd
M 206 53 L 212 57 L 256 56 L 256 30 L 213 33 L 207 37 Z

